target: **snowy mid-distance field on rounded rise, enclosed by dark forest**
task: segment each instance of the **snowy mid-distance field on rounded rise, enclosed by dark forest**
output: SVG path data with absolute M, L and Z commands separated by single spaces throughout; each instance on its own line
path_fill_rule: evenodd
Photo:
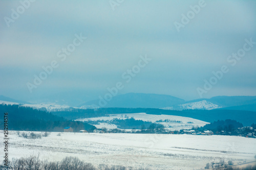
M 108 116 L 103 116 L 103 117 L 92 117 L 92 118 L 80 118 L 76 119 L 79 121 L 97 121 L 97 120 L 113 120 L 114 118 L 118 119 L 126 119 L 126 118 L 131 118 L 133 117 L 135 120 L 143 120 L 147 122 L 152 122 L 156 123 L 157 120 L 174 120 L 174 121 L 180 121 L 181 123 L 166 123 L 166 122 L 161 122 L 159 124 L 164 125 L 166 130 L 181 130 L 181 129 L 191 129 L 193 126 L 196 127 L 201 127 L 204 126 L 205 124 L 208 124 L 207 122 L 203 122 L 202 120 L 190 118 L 190 117 L 183 117 L 183 116 L 174 116 L 174 115 L 156 115 L 156 114 L 146 114 L 146 113 L 123 113 L 123 114 L 109 114 Z M 192 122 L 193 124 L 189 124 L 188 122 Z M 91 124 L 91 123 L 90 123 Z M 108 129 L 114 129 L 116 125 L 113 124 L 108 124 L 108 123 L 100 123 L 100 124 L 93 124 L 96 128 L 108 128 Z

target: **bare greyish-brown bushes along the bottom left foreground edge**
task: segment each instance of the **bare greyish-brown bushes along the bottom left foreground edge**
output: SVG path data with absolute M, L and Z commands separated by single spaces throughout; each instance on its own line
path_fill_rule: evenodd
M 9 162 L 8 166 L 5 165 L 5 162 L 0 165 L 0 169 L 5 170 L 126 170 L 133 169 L 132 167 L 125 167 L 121 165 L 106 165 L 99 164 L 98 166 L 94 166 L 91 163 L 86 163 L 81 161 L 78 157 L 66 157 L 61 161 L 41 161 L 36 156 L 30 156 L 27 158 L 19 158 L 13 159 Z M 136 168 L 140 170 L 147 170 L 148 168 Z

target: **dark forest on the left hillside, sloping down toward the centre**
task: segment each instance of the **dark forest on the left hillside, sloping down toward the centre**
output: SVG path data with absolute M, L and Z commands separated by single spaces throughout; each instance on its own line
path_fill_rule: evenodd
M 8 130 L 62 132 L 63 128 L 67 126 L 72 127 L 74 131 L 82 129 L 93 131 L 96 129 L 87 123 L 67 120 L 52 113 L 19 105 L 2 104 L 0 105 L 0 112 L 8 112 Z M 4 128 L 3 124 L 4 121 L 1 121 L 1 130 Z

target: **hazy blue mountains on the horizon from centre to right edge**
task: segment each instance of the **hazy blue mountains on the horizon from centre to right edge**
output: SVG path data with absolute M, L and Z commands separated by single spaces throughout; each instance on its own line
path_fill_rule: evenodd
M 89 101 L 78 107 L 90 108 L 93 105 L 99 105 L 99 100 Z M 120 108 L 162 108 L 165 110 L 211 110 L 218 108 L 229 108 L 242 105 L 256 104 L 256 96 L 215 96 L 210 99 L 197 99 L 185 101 L 171 95 L 163 94 L 145 94 L 145 93 L 127 93 L 114 96 L 104 107 Z M 247 109 L 242 107 L 240 109 Z M 249 111 L 254 111 L 249 109 Z

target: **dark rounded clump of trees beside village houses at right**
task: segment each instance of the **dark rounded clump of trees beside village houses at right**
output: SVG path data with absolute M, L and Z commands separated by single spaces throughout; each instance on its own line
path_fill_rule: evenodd
M 226 119 L 207 124 L 201 127 L 200 130 L 211 130 L 214 133 L 221 131 L 232 132 L 241 127 L 243 127 L 243 124 L 237 122 L 236 120 Z

